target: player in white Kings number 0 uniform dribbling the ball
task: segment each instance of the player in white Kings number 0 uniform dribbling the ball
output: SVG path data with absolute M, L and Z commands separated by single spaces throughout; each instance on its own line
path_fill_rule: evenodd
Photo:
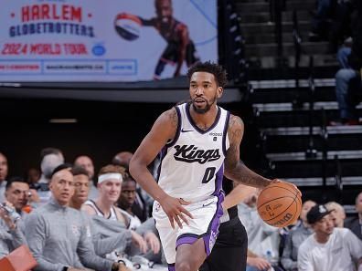
M 133 178 L 154 197 L 153 216 L 166 262 L 176 271 L 196 271 L 215 244 L 224 173 L 257 188 L 272 182 L 240 162 L 243 123 L 217 105 L 226 71 L 210 62 L 197 63 L 187 76 L 191 101 L 161 114 L 130 164 Z M 147 165 L 160 151 L 157 183 Z

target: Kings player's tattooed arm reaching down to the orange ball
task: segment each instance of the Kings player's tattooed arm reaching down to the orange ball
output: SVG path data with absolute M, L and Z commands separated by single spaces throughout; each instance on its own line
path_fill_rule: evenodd
M 234 115 L 229 120 L 229 150 L 225 159 L 225 176 L 234 182 L 240 182 L 245 185 L 264 188 L 272 180 L 262 177 L 252 172 L 243 162 L 240 161 L 240 142 L 244 133 L 244 123 Z

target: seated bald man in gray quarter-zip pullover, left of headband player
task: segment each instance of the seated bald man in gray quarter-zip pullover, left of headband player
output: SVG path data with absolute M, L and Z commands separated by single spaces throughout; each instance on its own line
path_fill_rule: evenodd
M 124 265 L 95 255 L 90 225 L 80 211 L 68 207 L 74 180 L 68 164 L 61 164 L 50 176 L 52 197 L 27 216 L 26 236 L 37 260 L 35 270 L 79 271 L 124 270 Z

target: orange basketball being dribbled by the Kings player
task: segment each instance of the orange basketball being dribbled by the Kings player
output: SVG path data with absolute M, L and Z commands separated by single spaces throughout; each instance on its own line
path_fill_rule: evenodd
M 298 219 L 302 211 L 302 200 L 292 184 L 275 182 L 261 191 L 257 208 L 266 224 L 282 228 Z

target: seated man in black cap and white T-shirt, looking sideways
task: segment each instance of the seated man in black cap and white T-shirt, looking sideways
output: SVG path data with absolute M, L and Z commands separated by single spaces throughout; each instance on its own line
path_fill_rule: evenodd
M 349 229 L 335 228 L 331 211 L 315 205 L 307 214 L 314 229 L 298 251 L 298 270 L 354 271 L 362 263 L 362 242 Z

